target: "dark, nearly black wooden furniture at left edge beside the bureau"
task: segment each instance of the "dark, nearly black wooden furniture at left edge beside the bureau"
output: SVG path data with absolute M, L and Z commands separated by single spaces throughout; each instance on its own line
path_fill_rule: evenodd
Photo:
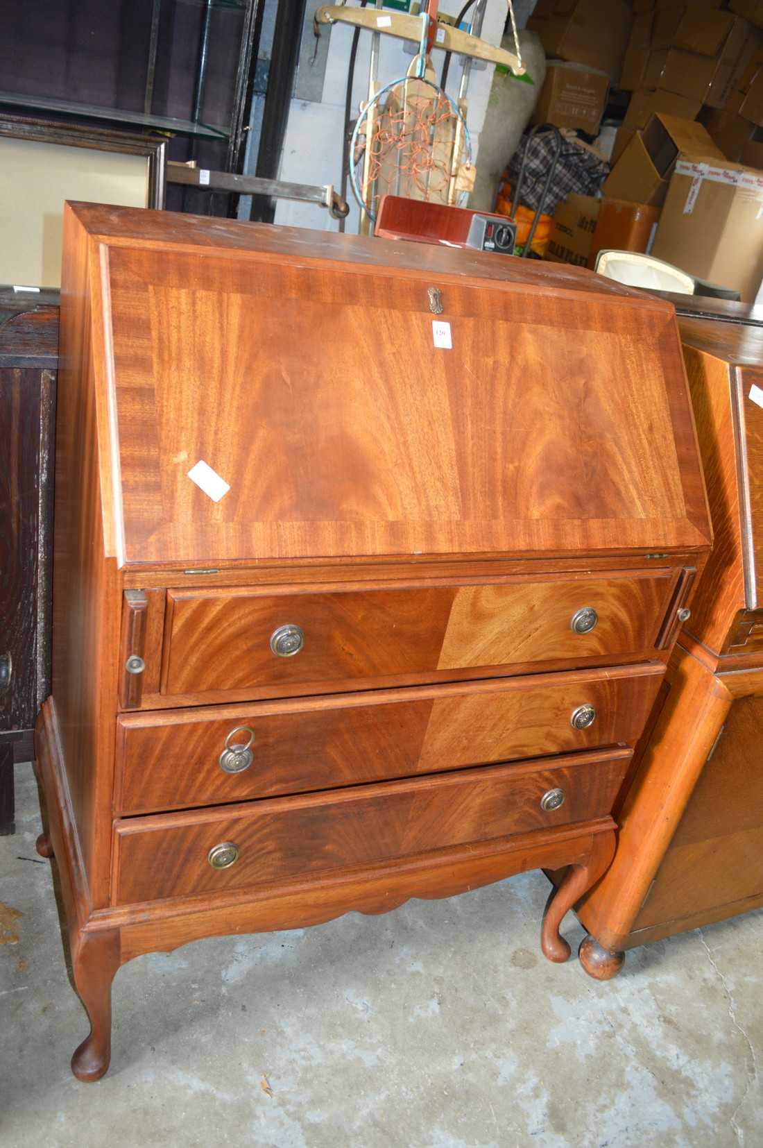
M 50 692 L 57 292 L 0 288 L 0 835 Z

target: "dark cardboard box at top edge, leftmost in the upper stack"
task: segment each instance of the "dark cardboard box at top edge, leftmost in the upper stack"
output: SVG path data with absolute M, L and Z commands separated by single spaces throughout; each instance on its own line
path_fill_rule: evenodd
M 527 26 L 537 32 L 547 56 L 607 72 L 617 82 L 631 30 L 626 0 L 539 2 Z

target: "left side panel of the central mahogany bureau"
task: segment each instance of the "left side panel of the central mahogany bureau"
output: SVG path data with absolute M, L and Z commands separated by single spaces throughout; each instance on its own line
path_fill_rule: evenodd
M 103 544 L 98 250 L 67 214 L 61 294 L 53 588 L 53 698 L 77 846 L 93 908 L 108 903 L 120 575 Z M 94 265 L 93 265 L 94 264 Z M 94 273 L 95 272 L 95 273 Z M 93 281 L 94 280 L 94 281 Z

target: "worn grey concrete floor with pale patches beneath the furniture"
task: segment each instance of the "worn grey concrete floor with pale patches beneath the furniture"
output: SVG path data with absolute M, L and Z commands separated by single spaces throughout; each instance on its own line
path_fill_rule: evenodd
M 540 955 L 540 874 L 139 957 L 114 983 L 109 1073 L 79 1084 L 87 1021 L 34 852 L 31 768 L 16 775 L 16 833 L 0 838 L 3 1148 L 763 1145 L 763 913 L 636 949 L 597 984 Z M 576 948 L 571 916 L 562 931 Z

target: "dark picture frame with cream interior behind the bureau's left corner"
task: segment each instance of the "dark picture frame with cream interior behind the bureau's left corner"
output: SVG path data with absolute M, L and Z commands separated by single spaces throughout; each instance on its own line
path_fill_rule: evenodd
M 61 286 L 65 200 L 161 209 L 166 139 L 0 116 L 0 284 Z

